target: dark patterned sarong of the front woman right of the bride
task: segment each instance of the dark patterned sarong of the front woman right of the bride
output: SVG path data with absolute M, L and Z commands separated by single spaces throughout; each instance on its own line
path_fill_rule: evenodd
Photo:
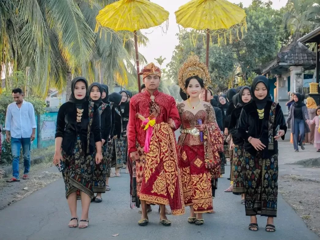
M 261 153 L 244 151 L 246 216 L 276 217 L 278 200 L 278 154 L 262 159 Z

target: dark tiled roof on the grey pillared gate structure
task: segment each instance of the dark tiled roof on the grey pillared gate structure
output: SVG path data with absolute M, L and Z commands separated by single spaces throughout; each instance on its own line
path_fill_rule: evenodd
M 262 73 L 267 73 L 279 65 L 287 66 L 310 66 L 316 64 L 316 53 L 310 51 L 298 41 L 294 41 L 282 48 L 276 59 L 262 67 Z

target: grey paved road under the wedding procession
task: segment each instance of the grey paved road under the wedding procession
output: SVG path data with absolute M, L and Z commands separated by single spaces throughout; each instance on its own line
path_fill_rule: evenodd
M 54 169 L 54 168 L 53 168 Z M 229 171 L 226 166 L 226 172 Z M 138 209 L 129 207 L 129 175 L 111 178 L 111 191 L 102 195 L 102 203 L 92 203 L 90 207 L 90 226 L 87 229 L 68 228 L 70 214 L 64 195 L 63 180 L 37 191 L 20 202 L 14 203 L 0 212 L 1 240 L 87 240 L 87 239 L 261 239 L 261 240 L 317 240 L 292 208 L 278 199 L 277 230 L 267 233 L 264 230 L 265 217 L 258 217 L 260 230 L 248 230 L 249 217 L 245 216 L 240 196 L 224 193 L 229 181 L 227 174 L 219 179 L 218 191 L 214 199 L 215 214 L 205 214 L 203 226 L 190 225 L 186 215 L 172 217 L 171 227 L 159 223 L 157 208 L 149 214 L 147 227 L 139 227 Z M 81 216 L 78 202 L 78 216 Z M 113 237 L 112 234 L 119 234 Z

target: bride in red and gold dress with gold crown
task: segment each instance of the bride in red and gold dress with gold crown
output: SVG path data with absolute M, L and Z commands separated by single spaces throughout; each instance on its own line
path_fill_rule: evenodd
M 202 214 L 213 210 L 211 177 L 220 176 L 223 136 L 212 105 L 199 99 L 211 83 L 205 64 L 197 56 L 190 56 L 179 70 L 178 81 L 188 95 L 186 101 L 177 104 L 182 126 L 178 161 L 184 203 L 190 206 L 188 222 L 202 225 Z

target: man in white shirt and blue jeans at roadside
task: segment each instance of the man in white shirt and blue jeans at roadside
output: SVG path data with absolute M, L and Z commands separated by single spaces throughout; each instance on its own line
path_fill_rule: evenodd
M 30 145 L 35 139 L 36 116 L 33 105 L 24 101 L 24 94 L 20 88 L 12 90 L 14 103 L 10 103 L 5 117 L 5 140 L 12 149 L 12 178 L 7 182 L 19 182 L 20 149 L 22 146 L 24 158 L 24 172 L 22 179 L 28 179 L 30 170 Z M 10 131 L 10 134 L 9 134 Z

